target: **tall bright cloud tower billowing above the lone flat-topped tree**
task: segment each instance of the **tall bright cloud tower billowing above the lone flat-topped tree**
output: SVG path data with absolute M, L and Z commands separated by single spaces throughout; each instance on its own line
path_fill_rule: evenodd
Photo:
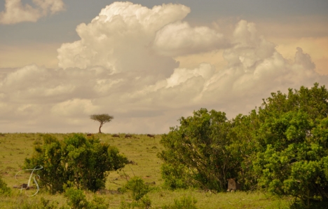
M 170 74 L 175 60 L 151 52 L 149 43 L 161 27 L 182 20 L 190 8 L 163 4 L 146 8 L 130 2 L 114 2 L 88 25 L 76 28 L 80 41 L 58 49 L 59 67 L 102 66 L 114 72 Z

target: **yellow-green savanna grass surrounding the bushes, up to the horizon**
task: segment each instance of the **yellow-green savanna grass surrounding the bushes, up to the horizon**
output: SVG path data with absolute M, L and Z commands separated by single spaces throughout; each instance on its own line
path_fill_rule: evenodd
M 11 196 L 0 196 L 0 208 L 28 208 L 26 205 L 38 204 L 43 197 L 50 202 L 59 203 L 57 207 L 67 204 L 67 199 L 63 194 L 50 195 L 42 188 L 36 196 L 26 196 L 25 191 L 20 193 L 19 189 L 14 189 L 14 185 L 27 182 L 29 173 L 19 173 L 18 182 L 15 179 L 16 173 L 22 169 L 24 159 L 33 154 L 35 144 L 42 143 L 43 133 L 0 133 L 0 175 L 8 187 L 13 189 Z M 53 134 L 58 139 L 63 139 L 69 134 Z M 160 135 L 155 138 L 146 135 L 132 134 L 131 138 L 125 138 L 121 133 L 120 138 L 112 137 L 111 134 L 95 134 L 101 142 L 109 143 L 118 147 L 121 153 L 128 157 L 131 162 L 125 168 L 113 171 L 107 177 L 107 192 L 102 194 L 93 194 L 86 191 L 88 199 L 94 195 L 102 196 L 109 203 L 109 208 L 120 208 L 121 202 L 131 202 L 130 194 L 111 194 L 123 187 L 131 177 L 141 177 L 144 182 L 152 183 L 149 198 L 151 199 L 151 208 L 161 208 L 163 205 L 172 205 L 175 199 L 183 196 L 196 198 L 197 208 L 289 208 L 288 198 L 277 198 L 261 192 L 243 192 L 218 193 L 210 191 L 200 191 L 198 189 L 186 189 L 170 191 L 164 189 L 163 179 L 160 175 L 161 161 L 157 158 L 158 151 L 163 149 L 160 144 Z M 155 182 L 155 184 L 153 184 Z M 27 191 L 27 194 L 33 194 L 34 191 Z

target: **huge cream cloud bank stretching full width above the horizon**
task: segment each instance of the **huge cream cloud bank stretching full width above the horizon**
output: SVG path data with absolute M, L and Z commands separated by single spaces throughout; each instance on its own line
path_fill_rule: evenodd
M 105 133 L 167 133 L 200 107 L 247 114 L 271 92 L 327 85 L 310 55 L 296 48 L 291 62 L 241 20 L 231 36 L 191 27 L 190 8 L 146 8 L 115 2 L 88 24 L 80 40 L 57 50 L 58 68 L 29 65 L 0 74 L 1 132 L 95 132 L 90 114 L 114 120 Z M 226 67 L 200 62 L 179 67 L 176 56 L 223 50 Z

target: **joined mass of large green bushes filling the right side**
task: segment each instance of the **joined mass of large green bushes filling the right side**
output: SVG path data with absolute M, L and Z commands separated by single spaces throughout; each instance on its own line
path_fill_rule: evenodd
M 309 207 L 328 201 L 328 91 L 272 93 L 259 109 L 231 121 L 200 109 L 163 135 L 162 175 L 172 189 L 222 191 L 238 177 L 242 189 L 291 195 Z

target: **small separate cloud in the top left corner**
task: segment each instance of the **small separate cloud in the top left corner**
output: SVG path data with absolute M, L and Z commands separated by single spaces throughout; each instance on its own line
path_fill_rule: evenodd
M 18 22 L 36 22 L 48 13 L 64 10 L 62 0 L 33 0 L 34 7 L 22 4 L 21 0 L 6 0 L 5 11 L 0 13 L 0 24 L 11 25 Z

